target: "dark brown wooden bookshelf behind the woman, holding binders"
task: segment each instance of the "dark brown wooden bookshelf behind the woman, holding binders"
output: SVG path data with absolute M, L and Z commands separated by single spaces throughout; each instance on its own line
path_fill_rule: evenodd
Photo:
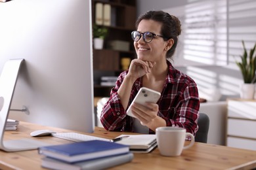
M 111 8 L 111 24 L 102 25 L 102 27 L 108 28 L 108 35 L 106 39 L 104 39 L 104 47 L 102 50 L 93 50 L 93 69 L 95 71 L 93 76 L 95 83 L 97 83 L 94 85 L 95 97 L 109 97 L 112 87 L 100 86 L 100 77 L 108 75 L 116 76 L 117 73 L 119 75 L 119 73 L 123 71 L 121 61 L 129 63 L 129 60 L 135 58 L 136 53 L 133 40 L 131 39 L 131 32 L 135 30 L 137 1 L 92 0 L 93 24 L 95 24 L 96 3 L 102 3 L 103 8 L 104 5 L 108 4 Z M 104 12 L 102 12 L 102 14 L 104 14 Z M 102 18 L 104 18 L 104 16 Z M 99 22 L 98 24 L 101 23 Z M 127 42 L 129 42 L 129 48 Z M 112 50 L 110 48 L 124 50 Z

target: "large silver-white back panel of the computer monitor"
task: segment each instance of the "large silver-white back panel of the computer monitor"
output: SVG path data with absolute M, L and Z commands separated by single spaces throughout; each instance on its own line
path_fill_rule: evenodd
M 24 58 L 9 118 L 92 133 L 91 1 L 12 0 L 0 23 L 0 72 Z

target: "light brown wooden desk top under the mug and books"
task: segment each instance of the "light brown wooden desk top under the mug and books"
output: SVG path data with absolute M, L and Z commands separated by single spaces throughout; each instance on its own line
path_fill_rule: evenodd
M 55 137 L 30 137 L 30 132 L 37 129 L 53 129 L 58 132 L 69 131 L 21 122 L 17 131 L 5 132 L 5 139 L 28 137 L 52 144 L 71 143 Z M 112 139 L 120 134 L 120 132 L 110 132 L 101 127 L 96 127 L 95 133 L 91 135 Z M 253 169 L 255 167 L 256 151 L 195 143 L 192 148 L 184 150 L 181 156 L 178 157 L 160 156 L 160 152 L 156 148 L 150 154 L 135 154 L 131 163 L 118 165 L 112 169 Z M 41 155 L 37 153 L 37 150 L 28 150 L 22 152 L 0 151 L 0 169 L 44 168 L 41 167 Z

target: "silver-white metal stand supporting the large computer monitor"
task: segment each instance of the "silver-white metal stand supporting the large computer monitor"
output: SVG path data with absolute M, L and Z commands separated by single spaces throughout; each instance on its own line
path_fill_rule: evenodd
M 23 61 L 24 59 L 10 59 L 5 63 L 0 76 L 0 149 L 6 152 L 33 150 L 39 146 L 49 145 L 48 143 L 33 139 L 3 140 L 12 95 L 16 86 L 20 65 Z

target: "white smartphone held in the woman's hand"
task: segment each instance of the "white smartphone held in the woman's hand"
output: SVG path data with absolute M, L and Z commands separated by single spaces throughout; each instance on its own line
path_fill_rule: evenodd
M 156 103 L 158 102 L 158 99 L 160 98 L 160 96 L 161 96 L 160 92 L 156 92 L 155 90 L 142 87 L 140 88 L 139 92 L 133 99 L 133 102 L 131 103 L 131 105 L 133 105 L 133 103 L 139 103 L 140 105 L 146 106 L 146 102 Z M 131 105 L 127 109 L 127 114 L 129 116 L 136 118 L 131 112 Z

